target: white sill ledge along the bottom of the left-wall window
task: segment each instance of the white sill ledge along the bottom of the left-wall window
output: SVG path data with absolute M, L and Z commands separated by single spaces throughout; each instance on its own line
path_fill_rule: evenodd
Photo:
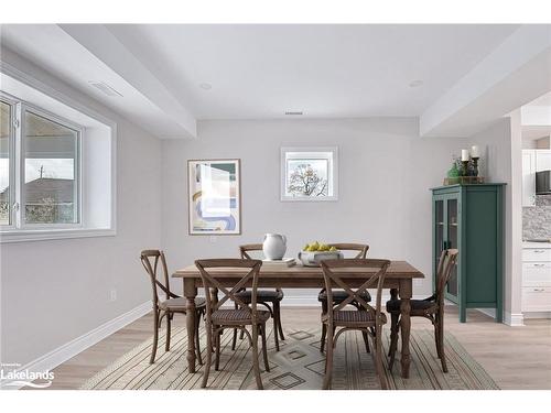
M 114 237 L 115 229 L 71 228 L 71 229 L 28 229 L 0 231 L 0 243 L 46 241 L 54 239 Z

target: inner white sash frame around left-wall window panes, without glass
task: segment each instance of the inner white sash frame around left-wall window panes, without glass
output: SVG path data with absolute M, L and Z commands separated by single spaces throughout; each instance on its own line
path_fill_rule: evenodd
M 63 230 L 63 229 L 80 229 L 84 227 L 83 219 L 83 153 L 82 153 L 82 141 L 85 133 L 85 128 L 76 124 L 65 118 L 62 118 L 55 113 L 47 110 L 39 108 L 31 105 L 22 99 L 18 99 L 14 96 L 1 93 L 2 100 L 10 101 L 13 106 L 14 112 L 12 112 L 12 134 L 10 139 L 10 203 L 11 203 L 11 224 L 0 226 L 0 230 L 12 231 L 12 232 L 24 232 L 32 230 Z M 24 130 L 24 116 L 26 112 L 34 113 L 52 122 L 58 123 L 65 128 L 72 129 L 77 133 L 76 138 L 76 153 L 75 153 L 75 183 L 74 185 L 74 199 L 76 199 L 77 205 L 75 206 L 75 213 L 77 216 L 77 222 L 71 224 L 26 224 L 25 222 L 25 192 L 24 192 L 24 180 L 25 180 L 25 145 L 26 145 L 26 133 Z M 13 150 L 12 150 L 13 149 Z M 12 163 L 13 162 L 13 163 Z M 13 166 L 12 166 L 13 165 Z

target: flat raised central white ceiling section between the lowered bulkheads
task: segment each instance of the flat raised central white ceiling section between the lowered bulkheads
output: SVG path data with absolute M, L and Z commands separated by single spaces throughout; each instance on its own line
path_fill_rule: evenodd
M 419 116 L 514 25 L 109 25 L 198 119 Z M 127 43 L 128 42 L 128 43 Z M 423 80 L 418 88 L 412 80 Z M 212 84 L 203 90 L 199 84 Z

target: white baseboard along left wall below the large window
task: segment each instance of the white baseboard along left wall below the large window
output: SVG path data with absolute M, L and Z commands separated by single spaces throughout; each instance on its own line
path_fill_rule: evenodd
M 75 357 L 79 352 L 83 352 L 87 348 L 94 346 L 95 344 L 101 341 L 104 338 L 110 336 L 111 334 L 118 332 L 122 327 L 136 322 L 138 318 L 143 317 L 145 314 L 151 312 L 152 304 L 150 301 L 130 309 L 117 318 L 114 318 L 97 328 L 82 335 L 80 337 L 64 344 L 63 346 L 52 350 L 44 356 L 20 367 L 17 371 L 32 371 L 32 372 L 43 372 L 47 370 L 53 370 L 61 363 L 67 361 L 68 359 Z M 15 385 L 7 387 L 10 380 L 2 380 L 0 382 L 0 389 L 18 389 Z

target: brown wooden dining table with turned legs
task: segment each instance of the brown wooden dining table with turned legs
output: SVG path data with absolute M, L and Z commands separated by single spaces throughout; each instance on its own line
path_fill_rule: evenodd
M 244 269 L 219 268 L 210 269 L 212 274 L 216 276 L 223 286 L 234 286 L 244 275 Z M 338 275 L 350 287 L 360 286 L 372 273 L 369 269 L 343 268 L 338 270 Z M 172 274 L 173 278 L 183 279 L 184 296 L 186 298 L 186 329 L 187 329 L 187 369 L 191 373 L 195 369 L 195 297 L 197 287 L 202 287 L 199 271 L 195 265 L 188 265 Z M 423 279 L 422 272 L 406 261 L 392 261 L 387 270 L 383 289 L 389 289 L 391 296 L 401 298 L 401 376 L 409 377 L 410 369 L 410 298 L 412 295 L 413 279 Z M 323 272 L 318 267 L 303 267 L 296 264 L 293 267 L 277 267 L 273 264 L 263 265 L 259 274 L 259 287 L 280 287 L 280 289 L 322 289 L 324 287 Z

